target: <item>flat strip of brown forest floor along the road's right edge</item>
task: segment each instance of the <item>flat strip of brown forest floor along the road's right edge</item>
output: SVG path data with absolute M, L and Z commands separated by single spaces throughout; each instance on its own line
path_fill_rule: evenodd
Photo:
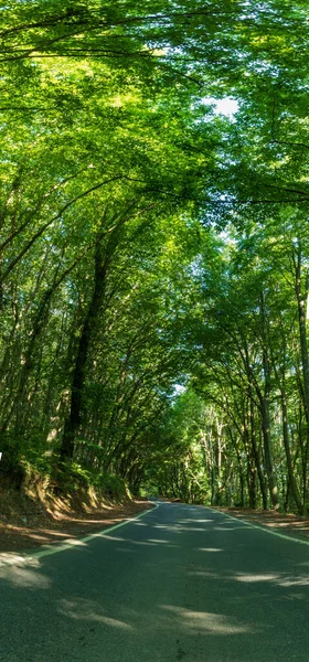
M 284 514 L 276 511 L 257 511 L 249 508 L 212 508 L 233 517 L 273 528 L 285 535 L 309 538 L 309 517 Z

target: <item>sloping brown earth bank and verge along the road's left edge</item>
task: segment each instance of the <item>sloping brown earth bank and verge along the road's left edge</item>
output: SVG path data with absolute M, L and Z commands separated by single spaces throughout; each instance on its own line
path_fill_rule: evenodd
M 54 498 L 46 504 L 15 490 L 0 493 L 0 560 L 3 553 L 22 552 L 102 531 L 152 508 L 148 501 L 115 504 L 81 503 Z

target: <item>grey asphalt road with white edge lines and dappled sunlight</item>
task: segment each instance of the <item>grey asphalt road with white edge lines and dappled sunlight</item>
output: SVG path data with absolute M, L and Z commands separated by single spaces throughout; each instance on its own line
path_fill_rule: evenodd
M 309 545 L 161 503 L 0 567 L 0 660 L 308 662 L 308 598 Z

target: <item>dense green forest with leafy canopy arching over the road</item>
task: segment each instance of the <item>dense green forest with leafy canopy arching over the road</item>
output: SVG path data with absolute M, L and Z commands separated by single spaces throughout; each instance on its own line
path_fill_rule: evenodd
M 0 481 L 306 514 L 307 2 L 0 15 Z

